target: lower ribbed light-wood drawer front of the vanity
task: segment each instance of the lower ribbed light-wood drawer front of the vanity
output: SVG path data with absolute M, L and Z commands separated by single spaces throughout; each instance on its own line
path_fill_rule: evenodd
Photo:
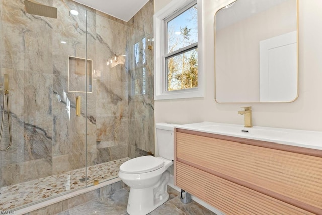
M 181 162 L 176 162 L 176 184 L 227 215 L 312 214 Z

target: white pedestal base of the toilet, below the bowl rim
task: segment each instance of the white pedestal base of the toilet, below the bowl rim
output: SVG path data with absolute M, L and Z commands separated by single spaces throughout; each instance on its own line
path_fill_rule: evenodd
M 152 187 L 144 189 L 130 188 L 126 211 L 130 215 L 146 215 L 169 199 L 167 184 L 170 173 L 165 171 L 160 181 Z

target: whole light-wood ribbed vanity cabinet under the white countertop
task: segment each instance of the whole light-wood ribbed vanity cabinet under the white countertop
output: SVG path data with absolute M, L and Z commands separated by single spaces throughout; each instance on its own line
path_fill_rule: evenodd
M 176 186 L 227 215 L 322 214 L 322 150 L 176 128 L 174 163 Z

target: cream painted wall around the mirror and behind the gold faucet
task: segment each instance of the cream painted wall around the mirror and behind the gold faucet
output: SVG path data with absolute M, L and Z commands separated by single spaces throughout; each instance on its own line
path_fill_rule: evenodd
M 213 121 L 243 124 L 241 106 L 252 106 L 253 125 L 322 131 L 322 4 L 299 0 L 299 97 L 291 103 L 218 104 L 214 100 L 214 8 L 223 0 L 203 1 L 205 96 L 156 100 L 155 122 Z M 155 12 L 170 0 L 154 0 Z M 157 147 L 155 147 L 157 149 Z

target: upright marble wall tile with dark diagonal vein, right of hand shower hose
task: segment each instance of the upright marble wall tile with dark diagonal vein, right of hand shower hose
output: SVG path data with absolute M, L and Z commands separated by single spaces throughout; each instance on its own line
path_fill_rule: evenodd
M 25 72 L 24 160 L 51 157 L 52 75 Z

